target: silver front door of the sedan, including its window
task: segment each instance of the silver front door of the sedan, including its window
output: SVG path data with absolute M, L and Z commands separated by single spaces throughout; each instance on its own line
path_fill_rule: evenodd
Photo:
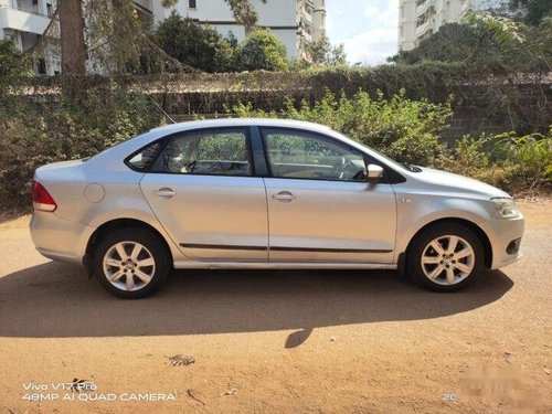
M 365 156 L 331 137 L 263 128 L 270 178 L 270 262 L 391 263 L 396 204 L 391 184 L 369 184 Z

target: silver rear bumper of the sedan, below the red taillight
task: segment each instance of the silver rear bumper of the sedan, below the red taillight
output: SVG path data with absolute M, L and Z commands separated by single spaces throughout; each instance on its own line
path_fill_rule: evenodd
M 34 246 L 44 257 L 82 265 L 95 227 L 60 219 L 55 213 L 35 211 L 30 230 Z

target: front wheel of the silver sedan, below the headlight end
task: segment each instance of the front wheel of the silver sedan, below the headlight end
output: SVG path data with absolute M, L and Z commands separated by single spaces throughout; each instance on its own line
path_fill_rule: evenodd
M 407 270 L 415 282 L 434 291 L 456 291 L 482 272 L 484 247 L 463 225 L 442 223 L 424 230 L 412 242 Z

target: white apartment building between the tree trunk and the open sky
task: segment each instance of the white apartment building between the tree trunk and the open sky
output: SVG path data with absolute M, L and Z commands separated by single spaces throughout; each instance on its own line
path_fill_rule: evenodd
M 317 41 L 326 30 L 325 0 L 251 0 L 257 11 L 262 28 L 269 29 L 287 49 L 288 57 L 300 57 L 306 41 Z M 209 24 L 222 35 L 230 32 L 238 42 L 245 39 L 245 28 L 240 25 L 224 0 L 180 0 L 173 9 L 166 9 L 153 1 L 155 24 L 167 19 L 172 10 L 180 15 Z

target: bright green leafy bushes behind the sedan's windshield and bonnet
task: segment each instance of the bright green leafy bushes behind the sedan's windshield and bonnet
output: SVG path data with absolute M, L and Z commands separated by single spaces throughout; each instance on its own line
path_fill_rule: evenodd
M 230 112 L 240 117 L 283 117 L 327 125 L 400 162 L 429 166 L 468 176 L 511 192 L 550 188 L 552 183 L 552 132 L 517 137 L 466 136 L 453 148 L 439 135 L 450 119 L 449 103 L 411 100 L 401 91 L 386 99 L 365 92 L 337 98 L 327 92 L 310 105 L 287 100 L 280 112 L 237 105 Z

